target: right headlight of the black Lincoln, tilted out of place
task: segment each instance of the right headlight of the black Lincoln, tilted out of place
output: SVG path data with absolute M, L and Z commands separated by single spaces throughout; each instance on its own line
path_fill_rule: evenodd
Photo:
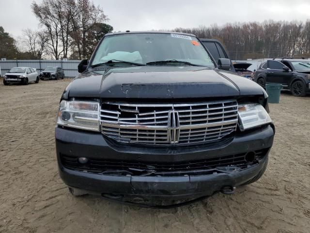
M 238 106 L 239 128 L 245 131 L 272 122 L 270 116 L 258 103 L 248 103 Z

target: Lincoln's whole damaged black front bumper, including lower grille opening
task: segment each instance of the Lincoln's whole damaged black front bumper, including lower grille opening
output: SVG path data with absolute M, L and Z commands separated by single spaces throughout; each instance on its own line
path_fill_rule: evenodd
M 100 133 L 60 127 L 55 129 L 55 136 L 59 173 L 68 186 L 102 196 L 181 200 L 209 196 L 223 187 L 235 187 L 254 178 L 268 161 L 274 128 L 267 125 L 248 133 L 236 133 L 225 143 L 180 150 L 113 145 Z M 258 156 L 249 163 L 225 166 L 225 159 L 239 158 L 248 152 Z M 96 170 L 88 169 L 87 166 L 77 167 L 75 163 L 79 157 L 97 163 Z M 218 163 L 219 158 L 222 158 L 219 163 L 223 165 L 205 166 L 202 163 L 215 163 L 215 160 Z M 109 170 L 98 172 L 100 166 L 116 166 L 109 162 L 115 160 L 119 161 L 117 166 L 124 167 L 124 172 L 121 169 L 116 173 Z M 195 161 L 200 161 L 199 166 L 190 168 Z M 146 165 L 147 169 L 130 169 L 137 164 Z M 171 170 L 166 169 L 165 164 L 171 164 Z M 178 170 L 177 167 L 182 169 Z

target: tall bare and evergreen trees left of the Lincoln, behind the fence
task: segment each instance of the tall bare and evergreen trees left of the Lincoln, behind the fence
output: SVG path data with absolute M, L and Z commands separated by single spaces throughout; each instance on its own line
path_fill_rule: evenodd
M 103 9 L 91 0 L 33 1 L 31 10 L 39 20 L 39 30 L 23 30 L 17 43 L 0 27 L 1 57 L 89 58 L 103 35 L 113 31 L 113 27 L 105 23 L 109 19 Z

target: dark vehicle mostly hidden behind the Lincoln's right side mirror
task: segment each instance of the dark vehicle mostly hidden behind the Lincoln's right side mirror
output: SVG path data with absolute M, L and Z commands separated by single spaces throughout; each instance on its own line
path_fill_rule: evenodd
M 225 47 L 222 45 L 222 43 L 217 39 L 205 39 L 201 38 L 202 44 L 205 46 L 205 48 L 211 53 L 214 60 L 217 62 L 219 58 L 228 58 L 229 53 L 225 50 Z M 229 69 L 231 72 L 236 72 L 233 63 L 231 63 L 231 67 Z

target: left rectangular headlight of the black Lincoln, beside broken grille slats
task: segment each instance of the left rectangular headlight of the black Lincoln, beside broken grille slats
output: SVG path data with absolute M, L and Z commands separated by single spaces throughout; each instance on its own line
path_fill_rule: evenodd
M 62 100 L 56 124 L 99 132 L 99 103 Z

